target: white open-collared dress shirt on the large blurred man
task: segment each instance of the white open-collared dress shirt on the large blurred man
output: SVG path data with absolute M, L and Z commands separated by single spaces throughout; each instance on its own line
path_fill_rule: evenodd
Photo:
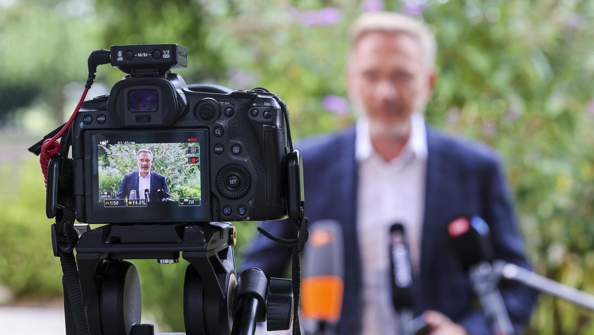
M 396 334 L 388 237 L 393 223 L 404 226 L 413 274 L 418 275 L 428 154 L 425 121 L 422 114 L 412 116 L 409 139 L 390 162 L 375 152 L 366 119 L 358 119 L 355 131 L 359 165 L 356 226 L 364 302 L 361 334 Z

